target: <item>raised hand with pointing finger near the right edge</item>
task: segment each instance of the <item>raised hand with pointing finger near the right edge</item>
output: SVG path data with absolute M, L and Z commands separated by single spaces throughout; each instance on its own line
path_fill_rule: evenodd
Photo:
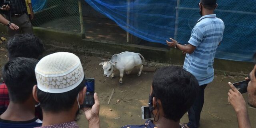
M 236 87 L 228 82 L 230 90 L 228 92 L 228 102 L 232 105 L 236 112 L 246 112 L 246 102 L 242 94 L 236 89 Z

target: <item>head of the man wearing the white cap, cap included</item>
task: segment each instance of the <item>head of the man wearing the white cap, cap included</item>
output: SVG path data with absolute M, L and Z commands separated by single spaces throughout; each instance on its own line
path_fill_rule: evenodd
M 68 52 L 50 54 L 38 62 L 35 73 L 33 96 L 43 113 L 78 112 L 86 93 L 78 56 Z

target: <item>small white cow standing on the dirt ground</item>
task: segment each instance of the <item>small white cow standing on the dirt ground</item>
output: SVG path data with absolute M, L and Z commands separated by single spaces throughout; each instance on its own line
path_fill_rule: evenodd
M 110 61 L 101 62 L 99 65 L 102 66 L 104 70 L 104 77 L 114 78 L 114 71 L 119 70 L 120 79 L 119 83 L 123 82 L 122 78 L 124 76 L 124 71 L 126 74 L 130 74 L 132 69 L 136 66 L 140 66 L 140 72 L 137 74 L 140 76 L 143 65 L 142 63 L 145 61 L 144 57 L 139 53 L 134 52 L 122 52 L 120 54 L 114 54 Z

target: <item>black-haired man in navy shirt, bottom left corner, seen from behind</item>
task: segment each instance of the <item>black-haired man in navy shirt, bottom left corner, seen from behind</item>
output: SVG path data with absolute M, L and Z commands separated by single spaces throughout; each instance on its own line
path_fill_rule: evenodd
M 42 125 L 42 121 L 34 115 L 36 101 L 32 96 L 37 63 L 38 60 L 33 58 L 18 57 L 5 64 L 3 78 L 9 91 L 10 104 L 0 115 L 1 128 L 34 128 Z

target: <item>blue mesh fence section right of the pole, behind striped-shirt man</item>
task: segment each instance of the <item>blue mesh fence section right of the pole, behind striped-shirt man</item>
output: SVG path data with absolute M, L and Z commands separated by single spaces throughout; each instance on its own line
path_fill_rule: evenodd
M 216 58 L 252 61 L 256 52 L 256 0 L 218 0 L 215 13 L 225 23 L 222 45 Z M 199 0 L 180 0 L 178 7 L 178 40 L 187 42 L 200 18 Z

